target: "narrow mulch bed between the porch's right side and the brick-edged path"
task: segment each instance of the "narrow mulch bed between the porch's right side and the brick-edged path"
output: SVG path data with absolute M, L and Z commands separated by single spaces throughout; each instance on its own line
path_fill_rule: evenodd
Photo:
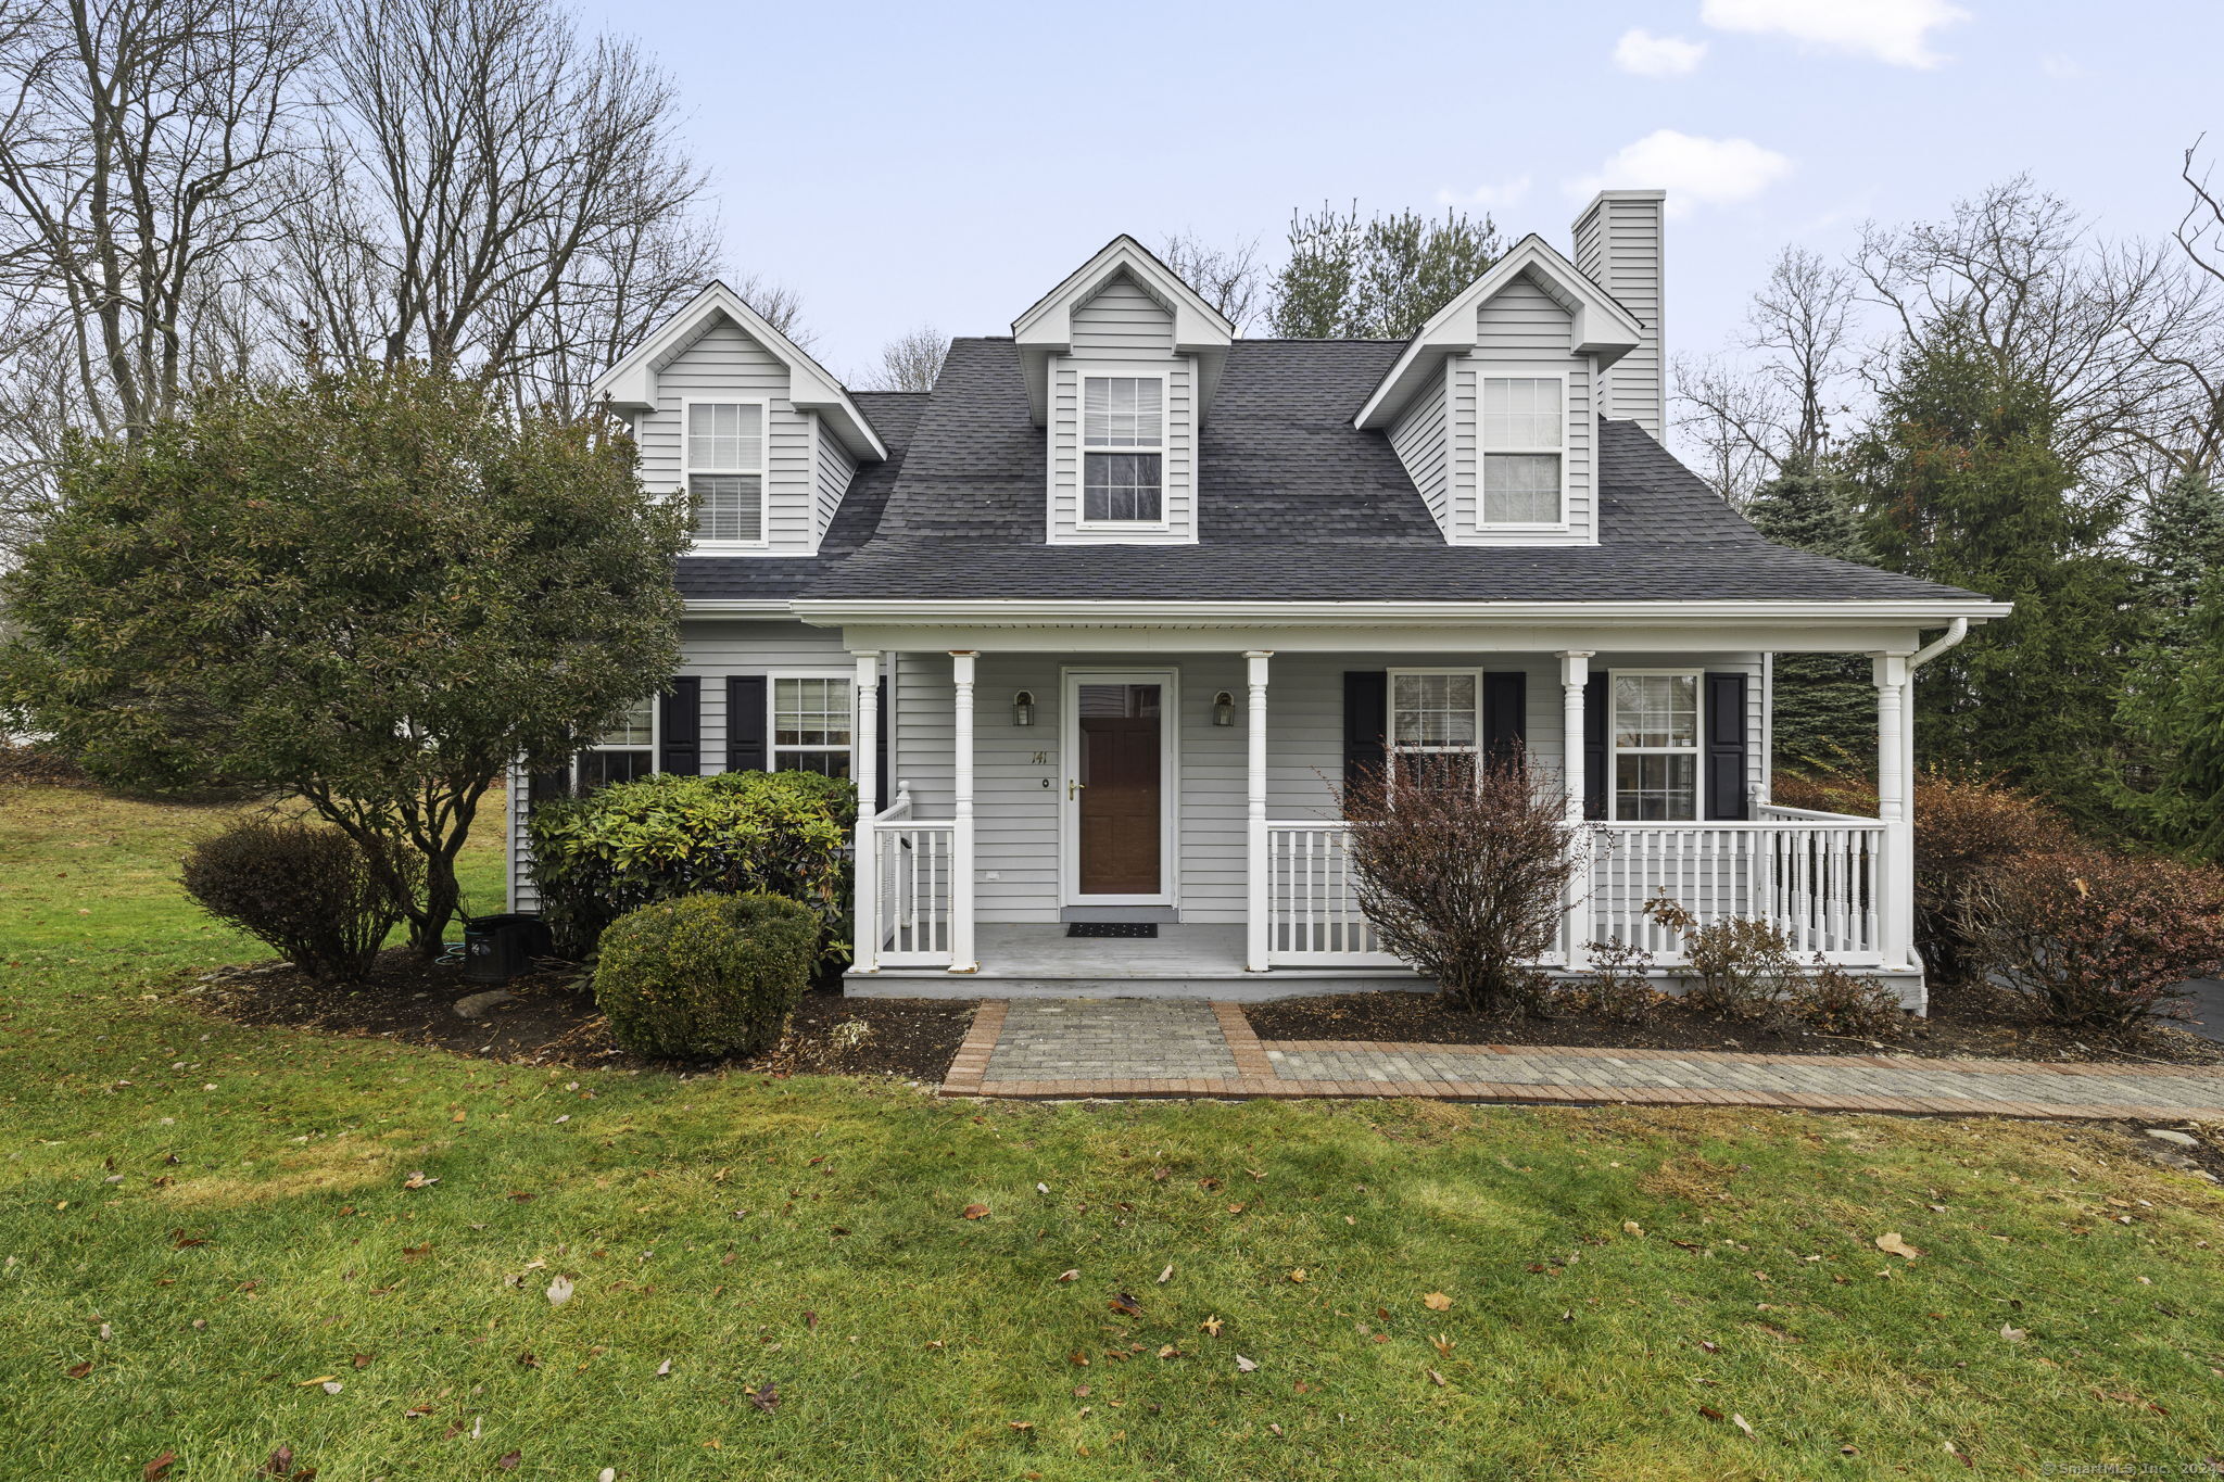
M 1261 1040 L 1383 1040 L 1392 1044 L 1566 1044 L 1575 1049 L 1710 1049 L 1755 1055 L 1893 1053 L 1962 1060 L 2084 1060 L 2124 1064 L 2224 1064 L 2224 1044 L 2157 1027 L 2131 1038 L 2079 1035 L 2002 1022 L 1982 1002 L 1935 993 L 1930 1018 L 1906 1022 L 1899 1040 L 1846 1040 L 1793 1027 L 1781 1033 L 1717 1020 L 1670 1002 L 1652 1024 L 1617 1024 L 1583 1013 L 1510 1018 L 1468 1013 L 1434 993 L 1337 993 L 1245 1004 Z

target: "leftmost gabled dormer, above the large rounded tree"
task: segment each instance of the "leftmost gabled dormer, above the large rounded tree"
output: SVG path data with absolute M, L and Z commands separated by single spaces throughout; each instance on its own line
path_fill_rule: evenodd
M 887 458 L 843 384 L 723 282 L 592 393 L 632 427 L 643 482 L 692 502 L 701 555 L 814 555 L 858 462 Z

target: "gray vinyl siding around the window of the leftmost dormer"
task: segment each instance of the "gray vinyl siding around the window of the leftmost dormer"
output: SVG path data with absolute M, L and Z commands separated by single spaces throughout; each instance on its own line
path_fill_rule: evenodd
M 656 373 L 656 411 L 636 418 L 641 478 L 649 489 L 683 491 L 681 404 L 685 400 L 765 400 L 765 538 L 787 555 L 818 549 L 823 495 L 812 471 L 812 418 L 787 400 L 787 364 L 721 318 Z M 821 440 L 834 447 L 834 438 Z

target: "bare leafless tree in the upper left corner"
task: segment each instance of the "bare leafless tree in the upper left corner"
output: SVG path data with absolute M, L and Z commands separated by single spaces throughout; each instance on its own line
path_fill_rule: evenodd
M 294 204 L 291 84 L 311 53 L 314 24 L 285 0 L 0 11 L 0 289 L 11 329 L 44 320 L 67 344 L 67 369 L 33 371 L 64 373 L 64 420 L 136 435 L 227 369 L 229 351 L 202 364 L 202 320 Z

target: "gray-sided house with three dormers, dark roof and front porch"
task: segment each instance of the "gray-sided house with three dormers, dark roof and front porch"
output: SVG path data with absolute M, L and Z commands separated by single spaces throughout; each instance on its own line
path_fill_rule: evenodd
M 1265 998 L 1412 987 L 1348 769 L 1519 744 L 1592 840 L 1548 967 L 1672 964 L 1666 891 L 1919 1004 L 1910 675 L 2008 607 L 1770 544 L 1661 447 L 1661 247 L 1604 191 L 1406 342 L 1250 340 L 1123 236 L 927 393 L 714 284 L 598 382 L 696 544 L 678 678 L 576 780 L 854 778 L 852 993 Z M 1873 655 L 1882 818 L 1770 802 L 1790 651 Z

